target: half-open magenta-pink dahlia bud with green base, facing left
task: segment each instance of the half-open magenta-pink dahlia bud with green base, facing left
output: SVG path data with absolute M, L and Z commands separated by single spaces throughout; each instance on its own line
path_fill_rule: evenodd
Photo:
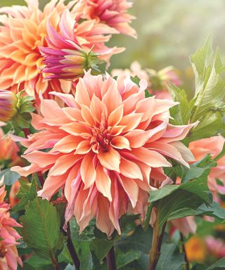
M 84 70 L 97 69 L 97 56 L 88 49 L 82 48 L 75 37 L 75 20 L 65 10 L 60 18 L 60 33 L 56 32 L 51 23 L 47 24 L 48 47 L 40 47 L 44 56 L 43 72 L 51 73 L 47 79 L 74 79 L 81 77 Z

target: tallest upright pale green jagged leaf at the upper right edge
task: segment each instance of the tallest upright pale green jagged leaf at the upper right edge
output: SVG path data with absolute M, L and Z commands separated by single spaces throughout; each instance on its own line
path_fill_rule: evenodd
M 191 63 L 195 73 L 195 110 L 191 122 L 195 122 L 204 119 L 203 115 L 209 111 L 224 110 L 222 100 L 225 95 L 225 82 L 221 78 L 224 65 L 221 62 L 219 49 L 212 58 L 210 37 L 204 46 L 191 56 Z

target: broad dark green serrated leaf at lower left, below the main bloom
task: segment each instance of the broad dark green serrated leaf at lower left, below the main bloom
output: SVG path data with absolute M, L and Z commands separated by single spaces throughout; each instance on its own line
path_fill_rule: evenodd
M 60 232 L 60 219 L 48 200 L 35 198 L 25 207 L 21 217 L 22 235 L 25 243 L 39 257 L 56 260 L 58 250 L 63 248 L 63 234 Z

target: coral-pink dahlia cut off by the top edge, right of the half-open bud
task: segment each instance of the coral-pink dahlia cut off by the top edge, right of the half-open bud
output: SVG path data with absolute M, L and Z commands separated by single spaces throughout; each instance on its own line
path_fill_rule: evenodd
M 79 18 L 97 20 L 122 34 L 136 38 L 136 31 L 129 25 L 135 17 L 127 13 L 132 5 L 127 0 L 79 0 L 73 12 Z

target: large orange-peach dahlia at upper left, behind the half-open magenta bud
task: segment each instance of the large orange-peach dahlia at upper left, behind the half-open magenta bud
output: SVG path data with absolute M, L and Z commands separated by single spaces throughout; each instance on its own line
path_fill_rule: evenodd
M 44 64 L 39 46 L 46 46 L 47 20 L 54 29 L 57 29 L 60 15 L 66 8 L 71 10 L 75 1 L 70 1 L 65 6 L 64 0 L 51 0 L 44 6 L 43 11 L 39 9 L 38 0 L 26 2 L 27 6 L 0 8 L 0 13 L 4 13 L 0 16 L 0 88 L 13 92 L 18 88 L 26 89 L 27 94 L 37 100 L 39 92 L 47 98 L 52 98 L 49 91 L 53 90 L 69 93 L 72 82 L 63 79 L 44 79 L 41 73 Z M 107 53 L 106 60 L 113 53 L 123 50 L 109 49 L 105 46 L 105 42 L 110 39 L 113 32 L 117 31 L 102 23 L 96 23 L 96 20 L 84 20 L 75 25 L 79 44 L 85 44 L 89 49 L 95 45 L 95 52 Z

